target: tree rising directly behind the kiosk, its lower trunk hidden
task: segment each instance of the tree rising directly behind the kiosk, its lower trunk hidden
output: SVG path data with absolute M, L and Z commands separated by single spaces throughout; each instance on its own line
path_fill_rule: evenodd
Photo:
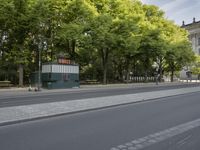
M 78 48 L 87 37 L 87 24 L 95 13 L 94 6 L 88 0 L 72 0 L 63 10 L 65 19 L 59 30 L 57 46 L 68 54 L 69 59 L 78 59 Z

